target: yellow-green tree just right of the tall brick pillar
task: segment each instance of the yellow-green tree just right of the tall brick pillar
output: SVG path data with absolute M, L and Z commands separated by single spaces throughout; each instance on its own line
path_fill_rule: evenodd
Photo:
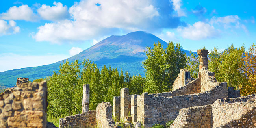
M 244 52 L 243 45 L 241 48 L 234 48 L 233 44 L 224 52 L 219 52 L 216 47 L 210 52 L 209 70 L 215 72 L 218 82 L 227 82 L 229 87 L 239 89 L 239 85 L 247 81 L 245 74 L 241 72 Z

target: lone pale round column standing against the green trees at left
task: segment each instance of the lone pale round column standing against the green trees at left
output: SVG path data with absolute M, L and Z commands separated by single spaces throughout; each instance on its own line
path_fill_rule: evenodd
M 89 101 L 90 101 L 90 85 L 84 84 L 83 85 L 83 108 L 82 113 L 85 113 L 86 111 L 89 111 Z

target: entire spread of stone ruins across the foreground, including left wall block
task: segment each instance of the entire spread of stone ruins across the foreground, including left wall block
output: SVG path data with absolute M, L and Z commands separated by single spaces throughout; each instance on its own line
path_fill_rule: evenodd
M 83 85 L 82 114 L 59 120 L 60 128 L 117 128 L 113 119 L 124 121 L 124 127 L 150 128 L 173 120 L 171 128 L 231 128 L 256 127 L 256 95 L 240 96 L 239 90 L 217 82 L 208 70 L 208 50 L 198 50 L 200 70 L 198 78 L 181 69 L 173 83 L 173 91 L 129 95 L 123 88 L 120 96 L 99 103 L 96 111 L 89 111 L 89 85 Z M 47 84 L 28 83 L 17 78 L 17 87 L 0 95 L 0 127 L 54 128 L 46 122 Z M 120 127 L 120 126 L 119 126 Z

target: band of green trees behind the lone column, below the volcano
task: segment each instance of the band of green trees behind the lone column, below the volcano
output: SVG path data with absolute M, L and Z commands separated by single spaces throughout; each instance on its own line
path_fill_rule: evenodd
M 80 67 L 82 66 L 82 67 Z M 82 68 L 82 70 L 81 70 Z M 36 80 L 40 81 L 40 80 Z M 95 110 L 100 102 L 111 102 L 120 95 L 120 89 L 129 87 L 130 94 L 141 94 L 145 78 L 120 74 L 117 69 L 104 66 L 99 69 L 89 60 L 61 64 L 58 72 L 47 78 L 48 115 L 67 116 L 82 112 L 83 84 L 90 85 L 89 109 Z

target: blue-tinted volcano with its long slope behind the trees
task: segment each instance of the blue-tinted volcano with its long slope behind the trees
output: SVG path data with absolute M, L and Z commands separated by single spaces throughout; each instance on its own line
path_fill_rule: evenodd
M 147 46 L 153 47 L 154 42 L 158 41 L 164 48 L 167 47 L 165 41 L 153 34 L 143 31 L 131 32 L 122 36 L 112 35 L 67 59 L 69 62 L 74 62 L 76 59 L 80 62 L 84 59 L 90 59 L 94 61 L 98 67 L 111 65 L 111 67 L 117 68 L 119 71 L 122 69 L 132 75 L 140 73 L 141 76 L 145 76 L 144 69 L 141 67 L 142 61 L 146 57 L 144 51 L 147 50 Z M 183 51 L 187 55 L 190 55 L 189 51 Z M 15 85 L 17 77 L 30 78 L 30 81 L 32 81 L 34 79 L 52 76 L 53 70 L 57 71 L 62 62 L 63 61 L 59 61 L 50 65 L 0 72 L 0 83 L 11 87 Z

